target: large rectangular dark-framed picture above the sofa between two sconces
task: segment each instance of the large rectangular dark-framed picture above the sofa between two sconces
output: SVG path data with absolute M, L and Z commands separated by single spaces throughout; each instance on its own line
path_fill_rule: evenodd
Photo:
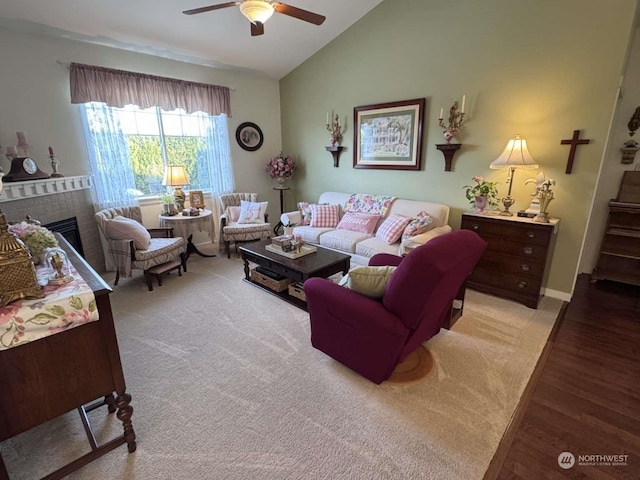
M 353 168 L 420 170 L 424 98 L 353 109 Z

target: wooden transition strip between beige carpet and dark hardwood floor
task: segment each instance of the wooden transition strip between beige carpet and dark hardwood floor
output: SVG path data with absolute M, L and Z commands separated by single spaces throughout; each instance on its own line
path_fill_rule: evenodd
M 559 292 L 562 293 L 562 292 Z M 551 295 L 549 295 L 551 296 Z M 516 409 L 513 412 L 511 420 L 509 421 L 509 425 L 502 435 L 502 439 L 500 440 L 500 444 L 496 449 L 496 453 L 493 455 L 491 462 L 489 463 L 489 467 L 484 474 L 483 480 L 496 480 L 498 478 L 498 474 L 502 469 L 502 464 L 507 458 L 509 450 L 511 449 L 511 444 L 513 443 L 514 438 L 516 437 L 516 433 L 518 432 L 518 428 L 520 427 L 520 423 L 522 422 L 522 418 L 524 417 L 527 406 L 529 405 L 529 401 L 533 395 L 533 391 L 535 390 L 536 385 L 538 384 L 538 380 L 540 379 L 540 375 L 542 374 L 542 370 L 547 363 L 547 359 L 549 358 L 549 354 L 551 353 L 551 349 L 553 344 L 555 343 L 556 336 L 558 335 L 558 330 L 560 330 L 560 325 L 564 320 L 565 312 L 567 311 L 567 307 L 569 306 L 568 302 L 564 302 L 562 307 L 560 307 L 560 312 L 558 312 L 558 317 L 551 329 L 551 333 L 549 333 L 549 338 L 542 348 L 542 352 L 540 353 L 540 357 L 538 358 L 538 362 L 536 363 L 533 372 L 531 373 L 531 377 L 527 382 L 527 386 L 524 388 L 522 392 L 522 396 L 520 397 L 520 401 L 516 406 Z

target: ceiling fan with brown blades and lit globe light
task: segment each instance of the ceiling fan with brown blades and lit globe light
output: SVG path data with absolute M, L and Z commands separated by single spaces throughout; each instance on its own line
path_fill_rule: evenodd
M 242 0 L 239 2 L 220 3 L 218 5 L 209 5 L 208 7 L 194 8 L 193 10 L 185 10 L 185 15 L 195 15 L 196 13 L 210 12 L 227 7 L 240 7 L 240 12 L 251 22 L 251 36 L 262 35 L 264 33 L 264 22 L 266 22 L 273 12 L 282 13 L 298 20 L 313 23 L 314 25 L 322 25 L 326 17 L 317 13 L 309 12 L 301 8 L 292 7 L 285 3 L 272 2 L 271 0 Z

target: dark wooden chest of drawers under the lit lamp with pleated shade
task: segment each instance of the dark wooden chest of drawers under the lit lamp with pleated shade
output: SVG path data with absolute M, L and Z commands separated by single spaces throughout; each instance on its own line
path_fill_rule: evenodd
M 473 230 L 489 244 L 467 287 L 538 308 L 558 221 L 463 213 L 461 228 Z

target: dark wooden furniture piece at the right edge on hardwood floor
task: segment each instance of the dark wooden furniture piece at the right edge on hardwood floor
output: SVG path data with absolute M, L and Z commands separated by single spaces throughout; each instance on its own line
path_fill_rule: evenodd
M 611 200 L 592 281 L 640 285 L 640 203 Z

